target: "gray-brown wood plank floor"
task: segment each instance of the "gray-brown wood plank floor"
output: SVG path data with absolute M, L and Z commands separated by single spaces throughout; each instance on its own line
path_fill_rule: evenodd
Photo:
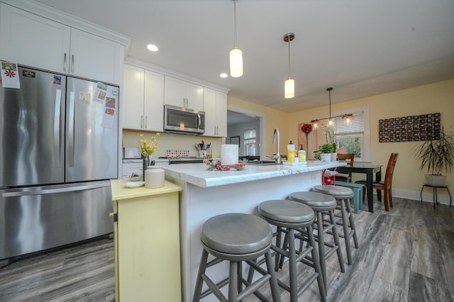
M 374 213 L 360 211 L 355 223 L 360 247 L 353 249 L 353 266 L 346 265 L 342 274 L 336 256 L 328 259 L 328 301 L 453 301 L 454 207 L 433 208 L 432 203 L 394 198 L 394 208 L 385 212 L 383 204 L 375 201 Z M 345 250 L 343 255 L 346 258 Z M 304 271 L 299 266 L 301 278 Z M 284 279 L 285 273 L 279 276 Z M 285 291 L 281 296 L 289 301 Z M 0 268 L 0 301 L 114 299 L 114 242 L 110 239 L 19 259 Z M 316 283 L 299 301 L 320 301 Z

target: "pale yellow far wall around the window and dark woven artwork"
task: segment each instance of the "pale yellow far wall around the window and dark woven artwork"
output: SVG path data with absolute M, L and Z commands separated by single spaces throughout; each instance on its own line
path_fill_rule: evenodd
M 454 130 L 454 79 L 417 86 L 411 89 L 394 91 L 388 94 L 370 96 L 364 99 L 345 101 L 331 105 L 331 111 L 341 111 L 345 108 L 369 106 L 370 108 L 370 150 L 371 161 L 383 164 L 382 174 L 387 165 L 389 154 L 398 152 L 396 168 L 393 177 L 393 189 L 404 191 L 420 191 L 424 182 L 426 170 L 419 171 L 419 160 L 414 156 L 414 150 L 421 142 L 378 142 L 378 120 L 400 116 L 413 116 L 425 113 L 441 112 L 441 122 L 445 130 Z M 313 108 L 307 111 L 289 113 L 287 132 L 297 136 L 298 123 L 311 121 L 313 118 L 326 117 L 328 106 Z M 318 130 L 318 140 L 324 143 L 325 138 Z M 448 174 L 446 184 L 454 184 L 453 173 Z

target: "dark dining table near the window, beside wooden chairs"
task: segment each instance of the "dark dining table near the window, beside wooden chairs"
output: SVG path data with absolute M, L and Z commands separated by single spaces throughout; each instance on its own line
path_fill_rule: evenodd
M 369 212 L 374 211 L 374 196 L 373 196 L 373 183 L 374 183 L 374 174 L 375 181 L 382 180 L 382 164 L 372 164 L 370 162 L 353 162 L 353 165 L 347 164 L 343 167 L 337 167 L 337 172 L 349 174 L 353 173 L 362 173 L 366 174 L 366 192 L 367 192 L 367 206 Z M 377 199 L 378 201 L 382 200 L 382 191 L 377 190 Z

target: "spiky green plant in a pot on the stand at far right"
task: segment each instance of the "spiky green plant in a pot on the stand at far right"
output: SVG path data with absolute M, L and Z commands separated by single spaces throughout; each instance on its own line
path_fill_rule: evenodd
M 454 164 L 454 133 L 441 131 L 431 135 L 416 149 L 416 157 L 421 160 L 419 169 L 427 167 L 426 183 L 431 186 L 443 186 L 446 177 L 442 172 L 450 172 Z

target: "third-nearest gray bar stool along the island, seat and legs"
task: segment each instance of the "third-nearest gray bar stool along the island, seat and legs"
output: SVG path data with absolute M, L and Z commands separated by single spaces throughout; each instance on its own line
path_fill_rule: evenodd
M 336 228 L 336 220 L 334 218 L 334 209 L 336 208 L 336 199 L 326 194 L 316 192 L 294 192 L 289 196 L 290 200 L 303 203 L 309 206 L 316 213 L 314 226 L 316 227 L 316 240 L 319 242 L 319 255 L 320 266 L 323 274 L 323 282 L 325 284 L 326 292 L 326 259 L 337 252 L 339 267 L 341 272 L 345 273 L 345 265 L 341 252 L 341 242 L 339 241 L 338 231 Z M 324 220 L 323 215 L 328 214 L 329 220 Z M 325 241 L 324 235 L 329 234 L 333 236 L 334 244 Z M 326 249 L 325 247 L 328 247 Z

